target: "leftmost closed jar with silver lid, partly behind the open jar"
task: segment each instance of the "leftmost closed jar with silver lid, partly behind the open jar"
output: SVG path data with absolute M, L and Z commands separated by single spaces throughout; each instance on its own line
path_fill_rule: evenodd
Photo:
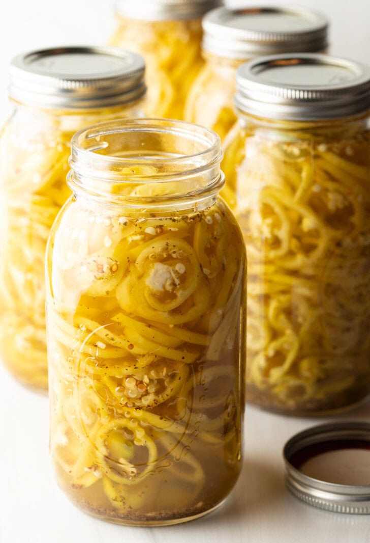
M 0 138 L 0 357 L 30 386 L 48 387 L 44 252 L 70 195 L 70 138 L 105 119 L 143 115 L 144 93 L 144 60 L 121 49 L 47 49 L 11 64 L 14 112 Z

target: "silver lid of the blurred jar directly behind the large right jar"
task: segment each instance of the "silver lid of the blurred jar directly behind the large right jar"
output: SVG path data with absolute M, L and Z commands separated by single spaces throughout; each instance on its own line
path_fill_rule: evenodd
M 327 18 L 305 8 L 218 8 L 204 17 L 203 30 L 203 49 L 224 58 L 319 53 L 328 46 Z

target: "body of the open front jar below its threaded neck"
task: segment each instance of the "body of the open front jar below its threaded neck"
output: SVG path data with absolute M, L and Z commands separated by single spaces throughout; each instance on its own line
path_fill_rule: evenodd
M 72 202 L 50 252 L 59 484 L 120 523 L 215 508 L 241 469 L 245 270 L 230 211 L 127 218 Z

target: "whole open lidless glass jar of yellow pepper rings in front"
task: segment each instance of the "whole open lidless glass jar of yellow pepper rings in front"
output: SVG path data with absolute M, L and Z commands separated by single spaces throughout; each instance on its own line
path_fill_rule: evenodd
M 102 519 L 194 519 L 241 469 L 245 250 L 221 157 L 214 132 L 163 119 L 72 140 L 47 251 L 50 445 Z

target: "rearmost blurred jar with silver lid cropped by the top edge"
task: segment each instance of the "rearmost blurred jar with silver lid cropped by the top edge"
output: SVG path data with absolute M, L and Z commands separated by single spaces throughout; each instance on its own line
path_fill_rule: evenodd
M 221 0 L 117 0 L 114 46 L 145 58 L 149 116 L 184 118 L 187 93 L 203 59 L 202 16 Z

